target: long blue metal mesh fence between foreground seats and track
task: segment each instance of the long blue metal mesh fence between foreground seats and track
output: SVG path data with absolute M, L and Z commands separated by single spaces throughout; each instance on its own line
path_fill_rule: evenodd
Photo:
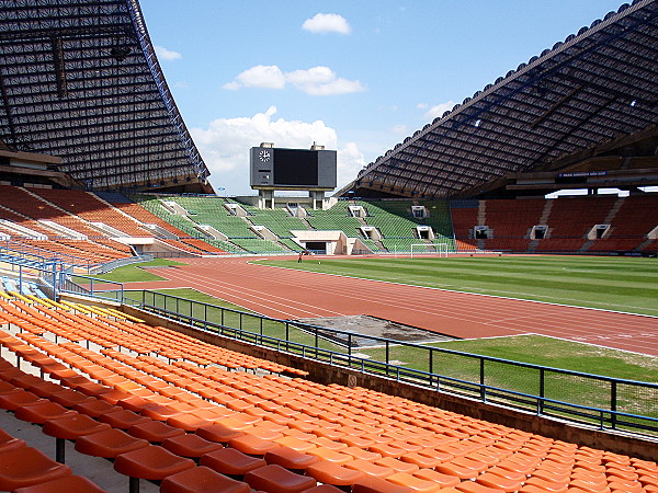
M 658 383 L 404 343 L 272 319 L 155 291 L 123 295 L 126 305 L 305 358 L 601 429 L 658 435 Z M 364 343 L 374 347 L 374 357 L 360 353 L 365 351 Z

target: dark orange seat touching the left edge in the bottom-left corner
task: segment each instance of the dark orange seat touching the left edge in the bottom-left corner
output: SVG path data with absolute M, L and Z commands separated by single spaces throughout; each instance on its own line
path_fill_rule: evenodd
M 32 447 L 0 454 L 0 491 L 14 491 L 70 474 L 68 466 L 55 462 Z

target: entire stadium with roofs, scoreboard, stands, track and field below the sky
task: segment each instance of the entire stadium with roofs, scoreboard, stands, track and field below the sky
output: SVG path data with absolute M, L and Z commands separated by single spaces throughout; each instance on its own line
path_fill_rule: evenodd
M 0 19 L 0 490 L 658 492 L 658 1 L 253 196 L 137 0 Z

